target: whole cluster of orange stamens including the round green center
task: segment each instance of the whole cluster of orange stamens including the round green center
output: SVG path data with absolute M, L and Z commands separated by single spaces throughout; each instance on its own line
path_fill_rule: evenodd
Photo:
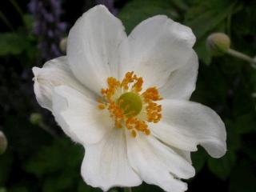
M 98 99 L 99 110 L 109 110 L 117 128 L 126 127 L 135 138 L 138 131 L 149 135 L 146 122 L 157 123 L 162 118 L 161 100 L 156 87 L 142 91 L 143 79 L 134 72 L 127 72 L 122 82 L 116 78 L 107 78 L 108 88 L 102 89 L 102 99 Z

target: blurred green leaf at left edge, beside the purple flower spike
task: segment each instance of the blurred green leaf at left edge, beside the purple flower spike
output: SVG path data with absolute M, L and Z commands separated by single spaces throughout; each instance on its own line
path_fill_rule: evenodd
M 8 54 L 18 55 L 26 49 L 27 42 L 21 34 L 3 33 L 0 34 L 0 56 Z

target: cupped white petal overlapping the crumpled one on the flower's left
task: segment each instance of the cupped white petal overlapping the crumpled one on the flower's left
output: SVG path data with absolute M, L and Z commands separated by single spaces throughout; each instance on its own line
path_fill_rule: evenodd
M 78 90 L 58 86 L 53 94 L 53 113 L 67 135 L 83 145 L 99 142 L 114 122 L 106 110 Z

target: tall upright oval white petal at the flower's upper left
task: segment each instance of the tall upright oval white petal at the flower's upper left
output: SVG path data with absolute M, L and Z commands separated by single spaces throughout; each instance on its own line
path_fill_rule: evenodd
M 74 75 L 99 93 L 108 77 L 118 78 L 128 54 L 122 22 L 105 6 L 94 6 L 74 24 L 67 40 L 67 57 Z

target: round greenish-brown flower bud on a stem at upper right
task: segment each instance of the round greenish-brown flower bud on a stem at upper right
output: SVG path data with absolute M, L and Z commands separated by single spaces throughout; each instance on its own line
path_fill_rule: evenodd
M 230 37 L 223 33 L 210 34 L 207 38 L 206 46 L 214 56 L 226 54 L 230 49 Z

